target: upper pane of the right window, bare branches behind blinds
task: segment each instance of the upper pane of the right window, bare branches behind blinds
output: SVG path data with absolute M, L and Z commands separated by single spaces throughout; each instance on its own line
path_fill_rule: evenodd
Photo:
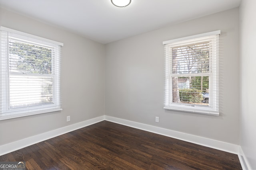
M 209 72 L 209 42 L 172 48 L 171 55 L 173 74 Z

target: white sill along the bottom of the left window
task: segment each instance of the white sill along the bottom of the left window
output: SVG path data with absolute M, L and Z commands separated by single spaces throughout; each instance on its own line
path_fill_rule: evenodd
M 62 108 L 51 108 L 51 109 L 41 109 L 36 111 L 26 111 L 26 112 L 20 112 L 20 113 L 2 113 L 0 114 L 0 121 L 6 120 L 6 119 L 12 119 L 17 117 L 24 117 L 24 116 L 30 116 L 30 115 L 37 115 L 42 113 L 49 113 L 53 111 L 60 111 Z

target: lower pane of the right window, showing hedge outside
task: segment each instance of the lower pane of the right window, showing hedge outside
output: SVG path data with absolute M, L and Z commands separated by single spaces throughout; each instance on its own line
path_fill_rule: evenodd
M 172 102 L 209 104 L 209 76 L 172 77 Z

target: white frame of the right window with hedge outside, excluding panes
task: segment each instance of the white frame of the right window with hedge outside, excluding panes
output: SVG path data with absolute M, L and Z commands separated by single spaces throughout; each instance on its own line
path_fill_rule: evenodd
M 209 57 L 209 73 L 187 73 L 187 74 L 172 74 L 172 56 L 169 55 L 168 45 L 174 43 L 180 43 L 187 41 L 195 41 L 203 37 L 217 36 L 216 40 L 218 42 L 218 37 L 220 35 L 220 30 L 212 31 L 208 33 L 202 33 L 198 35 L 192 35 L 189 37 L 183 37 L 178 39 L 172 39 L 169 41 L 164 41 L 164 56 L 165 56 L 165 83 L 164 83 L 164 109 L 175 110 L 175 111 L 185 111 L 191 113 L 202 113 L 208 115 L 219 115 L 219 103 L 218 103 L 218 48 Z M 219 42 L 218 44 L 219 45 Z M 212 50 L 212 45 L 210 45 L 210 50 Z M 214 69 L 212 69 L 212 63 L 215 63 Z M 181 104 L 172 102 L 172 77 L 186 77 L 186 76 L 209 76 L 209 106 L 196 105 L 196 104 Z M 214 89 L 214 90 L 213 90 Z

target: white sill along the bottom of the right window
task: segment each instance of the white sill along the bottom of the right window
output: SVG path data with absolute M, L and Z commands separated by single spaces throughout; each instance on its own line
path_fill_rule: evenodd
M 192 107 L 192 106 L 190 106 Z M 211 108 L 202 108 L 202 107 L 196 107 L 193 106 L 193 108 L 185 108 L 185 107 L 177 107 L 177 106 L 164 106 L 164 109 L 166 110 L 175 110 L 175 111 L 184 111 L 184 112 L 189 112 L 189 113 L 200 113 L 200 114 L 205 114 L 205 115 L 214 115 L 214 116 L 219 116 L 220 113 L 219 111 L 214 111 Z

